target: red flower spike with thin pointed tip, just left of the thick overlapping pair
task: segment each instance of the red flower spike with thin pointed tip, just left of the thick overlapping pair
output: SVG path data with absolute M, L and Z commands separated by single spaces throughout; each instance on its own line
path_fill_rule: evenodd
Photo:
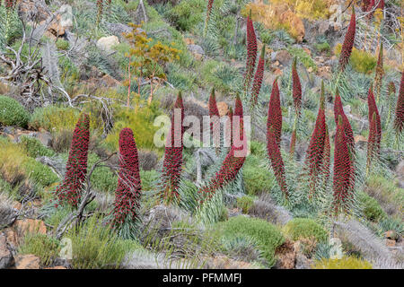
M 311 193 L 316 187 L 317 178 L 321 174 L 322 163 L 324 160 L 324 144 L 326 137 L 326 122 L 324 113 L 324 86 L 321 84 L 321 99 L 319 113 L 317 114 L 316 124 L 312 132 L 309 147 L 306 152 L 305 164 L 309 169 L 309 177 L 311 181 Z

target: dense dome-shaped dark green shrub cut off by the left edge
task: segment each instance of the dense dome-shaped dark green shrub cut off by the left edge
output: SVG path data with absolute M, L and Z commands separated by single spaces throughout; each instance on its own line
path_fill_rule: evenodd
M 0 95 L 1 125 L 25 127 L 27 126 L 29 119 L 30 114 L 17 100 Z

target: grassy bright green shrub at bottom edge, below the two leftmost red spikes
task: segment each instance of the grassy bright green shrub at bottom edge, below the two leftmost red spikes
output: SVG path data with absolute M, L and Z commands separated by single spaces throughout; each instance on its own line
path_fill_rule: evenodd
M 119 268 L 127 252 L 138 247 L 135 241 L 119 239 L 114 230 L 109 226 L 102 226 L 99 221 L 94 215 L 66 234 L 66 238 L 72 240 L 73 268 Z

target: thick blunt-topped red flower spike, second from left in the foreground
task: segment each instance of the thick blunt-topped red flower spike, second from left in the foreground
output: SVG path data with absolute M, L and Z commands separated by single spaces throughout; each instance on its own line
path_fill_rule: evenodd
M 141 190 L 136 142 L 132 130 L 126 127 L 119 134 L 119 179 L 113 209 L 114 225 L 136 219 Z

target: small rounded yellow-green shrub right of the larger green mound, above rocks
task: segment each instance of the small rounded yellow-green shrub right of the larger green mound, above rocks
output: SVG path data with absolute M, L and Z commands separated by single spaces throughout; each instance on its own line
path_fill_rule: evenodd
M 308 218 L 294 218 L 284 226 L 285 236 L 292 240 L 316 239 L 325 242 L 329 239 L 327 230 L 317 222 Z

